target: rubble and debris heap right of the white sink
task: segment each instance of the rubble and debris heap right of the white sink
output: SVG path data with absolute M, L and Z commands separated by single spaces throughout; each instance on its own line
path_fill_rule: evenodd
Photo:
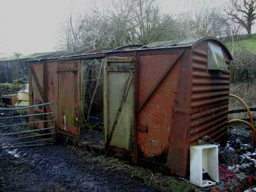
M 232 125 L 232 128 L 227 134 L 227 145 L 219 150 L 219 185 L 203 191 L 255 190 L 256 145 L 251 143 L 251 135 L 237 134 L 245 128 L 243 124 Z

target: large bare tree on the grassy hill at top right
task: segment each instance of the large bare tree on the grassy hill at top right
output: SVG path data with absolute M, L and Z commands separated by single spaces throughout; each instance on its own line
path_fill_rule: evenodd
M 256 0 L 229 0 L 226 13 L 232 22 L 241 24 L 248 34 L 256 19 Z

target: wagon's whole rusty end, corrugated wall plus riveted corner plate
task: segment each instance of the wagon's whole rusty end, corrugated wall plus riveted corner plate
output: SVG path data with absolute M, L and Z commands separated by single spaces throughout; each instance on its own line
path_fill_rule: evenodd
M 222 48 L 230 68 L 230 54 L 220 42 L 212 40 L 201 41 L 181 59 L 182 78 L 174 105 L 167 166 L 183 177 L 188 175 L 189 146 L 198 144 L 198 140 L 218 142 L 227 131 L 229 71 L 208 70 L 208 42 Z M 206 135 L 210 139 L 205 139 Z

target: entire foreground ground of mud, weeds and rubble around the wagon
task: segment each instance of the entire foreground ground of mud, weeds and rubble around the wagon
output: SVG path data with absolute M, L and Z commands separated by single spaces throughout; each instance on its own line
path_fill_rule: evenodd
M 17 114 L 0 113 L 0 117 L 12 115 Z M 3 140 L 16 137 L 1 134 L 29 129 L 9 126 L 21 122 L 24 122 L 21 118 L 15 122 L 11 119 L 0 122 L 0 145 L 13 144 Z M 3 124 L 8 127 L 1 127 Z M 244 191 L 256 186 L 256 146 L 250 144 L 249 127 L 237 124 L 231 128 L 227 146 L 220 148 L 220 182 L 214 187 L 195 187 L 183 178 L 131 166 L 99 153 L 53 144 L 0 150 L 0 191 Z M 243 134 L 236 136 L 233 132 L 239 130 Z M 90 135 L 86 134 L 87 137 Z M 25 139 L 28 142 L 34 140 Z

